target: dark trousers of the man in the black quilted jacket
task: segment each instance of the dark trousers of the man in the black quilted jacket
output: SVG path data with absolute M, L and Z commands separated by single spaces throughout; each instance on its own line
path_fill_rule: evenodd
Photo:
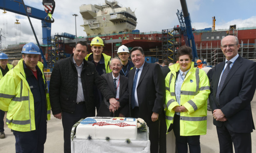
M 95 116 L 95 110 L 90 114 L 86 113 L 85 104 L 76 104 L 74 113 L 62 112 L 62 126 L 64 131 L 64 153 L 71 153 L 70 134 L 73 125 L 81 118 Z

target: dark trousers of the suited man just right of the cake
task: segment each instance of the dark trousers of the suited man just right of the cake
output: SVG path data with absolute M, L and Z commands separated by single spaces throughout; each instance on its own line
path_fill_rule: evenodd
M 139 118 L 139 107 L 134 107 L 132 109 L 132 117 Z M 143 118 L 142 118 L 143 119 Z M 159 120 L 152 122 L 152 121 L 145 121 L 147 126 L 149 127 L 149 140 L 150 140 L 150 153 L 158 153 L 158 146 L 159 146 Z

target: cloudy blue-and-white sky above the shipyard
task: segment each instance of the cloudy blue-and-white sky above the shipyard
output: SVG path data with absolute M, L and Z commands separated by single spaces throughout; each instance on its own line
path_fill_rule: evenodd
M 2 0 L 1 0 L 2 1 Z M 7 1 L 7 0 L 6 0 Z M 137 17 L 137 30 L 140 32 L 162 31 L 179 25 L 176 15 L 177 9 L 181 10 L 180 0 L 117 0 L 122 7 L 130 7 Z M 42 0 L 24 0 L 25 4 L 43 10 Z M 79 6 L 83 4 L 102 5 L 104 0 L 55 0 L 51 35 L 55 33 L 70 33 L 75 35 L 76 17 L 77 36 L 86 36 L 83 31 L 83 18 L 79 13 Z M 187 0 L 188 12 L 195 29 L 210 28 L 212 17 L 215 16 L 215 29 L 228 29 L 230 25 L 237 28 L 256 26 L 256 1 L 255 0 Z M 24 9 L 21 6 L 21 9 Z M 0 10 L 3 12 L 3 10 Z M 15 36 L 15 21 L 20 22 L 21 36 Z M 33 27 L 40 43 L 42 43 L 41 21 L 31 18 Z M 7 25 L 7 26 L 6 26 Z M 8 28 L 7 28 L 8 27 Z M 0 13 L 0 28 L 2 46 L 20 42 L 36 42 L 28 18 L 7 12 Z M 17 30 L 18 32 L 18 30 Z M 17 33 L 19 34 L 19 33 Z

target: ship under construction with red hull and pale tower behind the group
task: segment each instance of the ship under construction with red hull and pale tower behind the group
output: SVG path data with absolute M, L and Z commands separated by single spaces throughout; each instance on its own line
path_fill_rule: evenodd
M 145 60 L 152 63 L 155 60 L 160 63 L 163 60 L 176 62 L 177 49 L 186 44 L 186 33 L 180 25 L 162 31 L 151 31 L 149 33 L 135 30 L 137 18 L 134 11 L 130 8 L 121 7 L 116 1 L 99 5 L 81 5 L 80 13 L 83 17 L 86 37 L 79 37 L 77 41 L 86 41 L 88 44 L 88 53 L 91 53 L 90 41 L 99 36 L 104 41 L 103 52 L 109 56 L 117 56 L 117 49 L 125 45 L 129 50 L 135 46 L 141 46 L 144 49 Z M 228 35 L 236 36 L 241 47 L 238 54 L 246 59 L 256 59 L 256 27 L 236 28 L 231 25 L 227 29 L 215 30 L 214 25 L 211 28 L 202 30 L 193 29 L 195 46 L 198 58 L 214 66 L 225 60 L 221 51 L 221 39 Z M 59 59 L 68 57 L 72 54 L 76 41 L 74 35 L 67 33 L 58 34 L 48 38 L 48 45 L 42 46 L 44 56 L 47 59 L 49 67 Z M 20 59 L 21 48 L 24 45 L 9 46 L 0 50 L 8 54 L 9 63 L 14 59 Z

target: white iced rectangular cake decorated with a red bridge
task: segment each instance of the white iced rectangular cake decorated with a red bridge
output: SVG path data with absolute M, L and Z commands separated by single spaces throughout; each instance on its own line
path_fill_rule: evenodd
M 87 117 L 76 127 L 76 138 L 136 139 L 137 119 L 122 117 Z

